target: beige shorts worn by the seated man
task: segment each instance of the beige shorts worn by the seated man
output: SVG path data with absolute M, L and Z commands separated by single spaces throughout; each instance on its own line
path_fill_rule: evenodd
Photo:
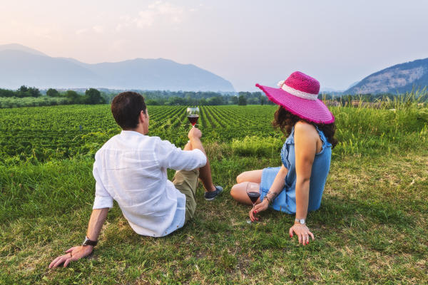
M 196 209 L 196 188 L 198 188 L 199 170 L 178 170 L 175 172 L 173 184 L 185 195 L 185 221 L 193 219 Z

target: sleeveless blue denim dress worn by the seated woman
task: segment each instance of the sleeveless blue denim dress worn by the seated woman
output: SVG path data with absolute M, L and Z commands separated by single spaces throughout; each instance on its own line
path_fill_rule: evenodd
M 318 134 L 322 141 L 322 149 L 315 154 L 315 159 L 312 164 L 312 172 L 310 175 L 309 186 L 309 204 L 308 211 L 314 211 L 320 208 L 322 192 L 324 191 L 325 180 L 330 170 L 330 161 L 332 157 L 332 145 L 328 142 L 324 133 L 317 128 Z M 285 177 L 285 186 L 270 205 L 272 209 L 295 214 L 296 212 L 296 165 L 295 165 L 295 143 L 294 143 L 294 127 L 291 130 L 287 140 L 281 150 L 282 164 L 287 168 L 287 176 Z M 260 200 L 266 196 L 273 180 L 281 167 L 267 167 L 263 169 L 262 181 L 260 182 Z

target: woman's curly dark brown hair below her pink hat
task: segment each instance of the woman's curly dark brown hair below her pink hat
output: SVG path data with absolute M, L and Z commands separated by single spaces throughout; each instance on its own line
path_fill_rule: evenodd
M 332 144 L 332 148 L 335 148 L 338 140 L 335 138 L 336 125 L 335 123 L 331 124 L 316 124 L 308 120 L 302 119 L 299 116 L 291 113 L 281 106 L 275 112 L 275 118 L 272 121 L 273 128 L 280 128 L 281 132 L 284 135 L 290 135 L 292 127 L 300 121 L 303 120 L 308 124 L 314 125 L 318 130 L 322 130 L 322 133 L 327 137 L 327 140 Z

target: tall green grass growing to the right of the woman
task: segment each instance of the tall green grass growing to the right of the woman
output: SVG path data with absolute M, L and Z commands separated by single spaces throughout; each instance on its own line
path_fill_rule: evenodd
M 388 155 L 407 152 L 428 142 L 427 88 L 367 103 L 340 102 L 330 107 L 336 118 L 339 144 L 333 155 Z

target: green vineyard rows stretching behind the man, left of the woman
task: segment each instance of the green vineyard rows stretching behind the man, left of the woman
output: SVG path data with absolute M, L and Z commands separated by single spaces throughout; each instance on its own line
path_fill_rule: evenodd
M 150 135 L 176 145 L 187 142 L 190 123 L 183 106 L 149 106 Z M 199 125 L 204 140 L 230 142 L 246 135 L 278 136 L 270 127 L 274 106 L 203 106 Z M 68 158 L 101 147 L 120 132 L 108 105 L 61 105 L 0 110 L 2 157 L 26 160 Z

